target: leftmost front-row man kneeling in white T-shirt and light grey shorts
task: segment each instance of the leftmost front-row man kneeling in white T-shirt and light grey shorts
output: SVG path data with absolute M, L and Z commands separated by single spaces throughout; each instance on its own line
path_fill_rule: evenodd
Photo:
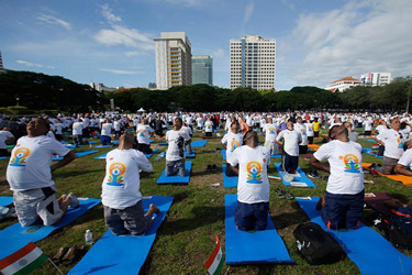
M 37 222 L 44 226 L 58 223 L 67 208 L 78 207 L 74 194 L 56 198 L 56 186 L 52 172 L 76 158 L 76 154 L 58 141 L 46 138 L 49 124 L 41 118 L 26 125 L 27 135 L 18 140 L 11 152 L 7 168 L 7 180 L 13 191 L 15 213 L 22 227 Z M 64 158 L 52 165 L 54 155 Z

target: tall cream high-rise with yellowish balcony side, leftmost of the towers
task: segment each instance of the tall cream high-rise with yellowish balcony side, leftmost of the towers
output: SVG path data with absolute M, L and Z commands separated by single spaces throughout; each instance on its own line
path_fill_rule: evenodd
M 191 44 L 183 32 L 162 33 L 155 38 L 156 86 L 165 90 L 191 85 Z

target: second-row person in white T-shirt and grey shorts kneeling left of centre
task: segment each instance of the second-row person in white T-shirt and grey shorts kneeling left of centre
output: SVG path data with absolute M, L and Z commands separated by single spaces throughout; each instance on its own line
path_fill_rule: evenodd
M 174 129 L 166 132 L 166 176 L 186 176 L 185 167 L 185 140 L 190 140 L 189 133 L 181 131 L 182 120 L 176 118 Z

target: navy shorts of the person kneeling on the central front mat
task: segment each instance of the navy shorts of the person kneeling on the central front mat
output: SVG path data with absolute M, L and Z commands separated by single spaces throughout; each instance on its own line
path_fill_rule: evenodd
M 269 202 L 243 204 L 237 201 L 235 223 L 240 230 L 265 230 Z

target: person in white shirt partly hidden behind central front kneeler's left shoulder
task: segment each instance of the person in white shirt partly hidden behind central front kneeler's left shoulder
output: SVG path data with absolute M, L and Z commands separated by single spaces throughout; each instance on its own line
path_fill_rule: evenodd
M 232 153 L 243 143 L 243 134 L 238 131 L 240 124 L 237 121 L 233 121 L 231 124 L 231 132 L 226 133 L 222 139 L 222 145 L 226 150 L 226 170 L 224 174 L 226 174 L 227 177 L 237 177 L 237 174 L 231 168 L 232 166 L 229 163 L 229 160 L 231 158 Z M 236 168 L 238 168 L 238 165 Z

